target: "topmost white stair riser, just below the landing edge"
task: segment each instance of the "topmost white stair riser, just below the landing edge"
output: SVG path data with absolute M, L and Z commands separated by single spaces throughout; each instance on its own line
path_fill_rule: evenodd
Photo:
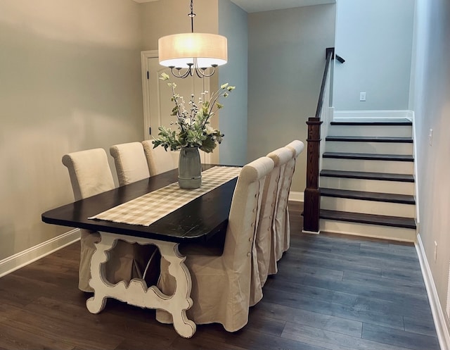
M 411 137 L 410 125 L 329 125 L 328 136 Z

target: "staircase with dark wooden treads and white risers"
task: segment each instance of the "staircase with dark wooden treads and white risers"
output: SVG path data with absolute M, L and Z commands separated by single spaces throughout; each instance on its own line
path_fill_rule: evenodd
M 412 135 L 406 118 L 330 123 L 319 180 L 321 232 L 415 242 Z

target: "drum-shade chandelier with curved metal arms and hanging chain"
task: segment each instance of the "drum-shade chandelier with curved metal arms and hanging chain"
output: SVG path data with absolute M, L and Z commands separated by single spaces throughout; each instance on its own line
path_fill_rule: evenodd
M 191 32 L 167 35 L 158 40 L 160 65 L 172 70 L 175 77 L 210 77 L 216 67 L 226 63 L 226 37 L 194 33 L 193 0 L 191 0 Z M 208 68 L 211 68 L 208 71 Z

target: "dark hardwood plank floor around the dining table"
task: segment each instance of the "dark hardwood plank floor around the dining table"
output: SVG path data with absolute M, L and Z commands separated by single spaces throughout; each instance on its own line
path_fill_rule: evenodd
M 113 299 L 89 313 L 76 243 L 0 278 L 0 349 L 439 349 L 414 247 L 301 235 L 301 210 L 290 204 L 291 247 L 238 332 L 199 325 L 184 339 Z

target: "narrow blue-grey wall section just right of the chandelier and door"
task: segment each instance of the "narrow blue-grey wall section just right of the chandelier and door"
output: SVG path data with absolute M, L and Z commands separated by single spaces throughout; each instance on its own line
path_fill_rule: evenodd
M 220 163 L 247 162 L 248 113 L 248 27 L 247 13 L 229 0 L 219 0 L 219 34 L 228 42 L 228 63 L 219 68 L 219 82 L 236 86 L 222 99 L 219 127 L 225 138 L 220 146 Z

